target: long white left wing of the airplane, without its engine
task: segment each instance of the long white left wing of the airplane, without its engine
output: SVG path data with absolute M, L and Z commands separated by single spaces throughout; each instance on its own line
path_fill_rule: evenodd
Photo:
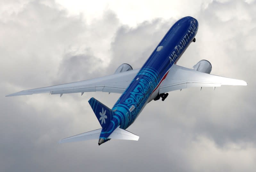
M 50 94 L 66 94 L 66 93 L 78 93 L 78 92 L 111 92 L 111 93 L 123 93 L 128 87 L 132 79 L 136 76 L 139 69 L 130 70 L 127 72 L 121 72 L 118 74 L 112 74 L 108 76 L 103 76 L 99 78 L 70 82 L 60 85 L 54 85 L 50 87 L 43 87 L 31 90 L 24 90 L 9 94 L 9 96 L 21 96 L 30 95 L 38 93 L 50 93 Z

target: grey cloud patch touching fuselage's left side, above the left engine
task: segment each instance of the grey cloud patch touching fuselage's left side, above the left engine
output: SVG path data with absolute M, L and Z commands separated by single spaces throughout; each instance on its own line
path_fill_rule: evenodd
M 169 30 L 169 23 L 174 23 L 174 20 L 168 22 L 161 19 L 145 21 L 136 28 L 121 26 L 112 42 L 113 59 L 110 66 L 117 68 L 119 64 L 127 62 L 134 68 L 141 67 L 159 40 Z

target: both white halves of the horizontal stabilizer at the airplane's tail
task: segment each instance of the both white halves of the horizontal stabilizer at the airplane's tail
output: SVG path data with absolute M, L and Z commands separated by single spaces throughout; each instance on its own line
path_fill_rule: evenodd
M 59 143 L 70 143 L 70 142 L 79 142 L 85 140 L 99 139 L 102 129 L 95 129 L 93 131 L 88 131 L 86 133 L 78 134 L 76 136 L 71 136 L 64 138 L 59 141 Z M 120 128 L 116 128 L 111 135 L 108 137 L 111 139 L 120 139 L 120 140 L 138 140 L 139 136 Z

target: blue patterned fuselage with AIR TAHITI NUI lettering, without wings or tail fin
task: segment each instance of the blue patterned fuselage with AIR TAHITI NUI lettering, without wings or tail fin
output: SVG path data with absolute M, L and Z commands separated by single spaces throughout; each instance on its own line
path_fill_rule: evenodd
M 159 85 L 193 41 L 197 29 L 198 22 L 193 17 L 184 17 L 169 29 L 113 106 L 111 123 L 100 138 L 106 139 L 118 126 L 126 129 L 135 121 L 145 105 L 159 94 Z

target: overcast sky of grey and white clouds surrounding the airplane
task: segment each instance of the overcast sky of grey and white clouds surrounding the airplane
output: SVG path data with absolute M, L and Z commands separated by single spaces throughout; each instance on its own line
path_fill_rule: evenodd
M 248 171 L 256 169 L 254 0 L 0 1 L 0 171 Z M 127 129 L 139 141 L 58 144 L 100 128 L 88 104 L 102 92 L 5 97 L 20 90 L 139 68 L 178 19 L 199 22 L 178 65 L 248 86 L 190 88 L 152 101 Z

